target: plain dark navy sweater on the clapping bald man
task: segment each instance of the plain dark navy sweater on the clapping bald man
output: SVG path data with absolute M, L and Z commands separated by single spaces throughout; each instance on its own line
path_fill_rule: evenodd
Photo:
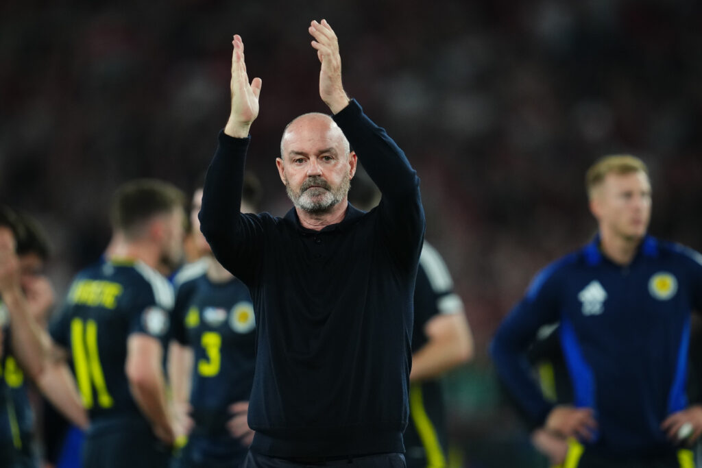
M 224 133 L 204 185 L 201 230 L 256 312 L 251 450 L 274 457 L 404 451 L 419 179 L 357 102 L 333 119 L 383 193 L 371 212 L 349 205 L 319 232 L 294 209 L 240 213 L 249 138 Z

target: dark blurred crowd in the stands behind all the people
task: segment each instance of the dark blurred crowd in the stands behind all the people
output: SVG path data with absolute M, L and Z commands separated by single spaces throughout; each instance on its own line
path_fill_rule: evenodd
M 585 169 L 651 168 L 651 233 L 702 250 L 702 4 L 694 0 L 3 0 L 0 201 L 47 227 L 62 294 L 110 235 L 117 185 L 190 190 L 228 116 L 232 34 L 263 79 L 248 167 L 263 207 L 284 125 L 326 111 L 307 25 L 340 41 L 345 88 L 417 169 L 427 239 L 477 345 L 447 379 L 463 466 L 529 466 L 486 354 L 534 273 L 595 232 Z M 514 464 L 521 460 L 520 464 Z

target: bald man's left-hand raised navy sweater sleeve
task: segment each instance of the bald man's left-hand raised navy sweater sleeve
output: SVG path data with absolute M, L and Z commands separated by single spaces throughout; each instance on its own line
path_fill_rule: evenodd
M 244 162 L 251 138 L 232 138 L 220 131 L 218 147 L 207 169 L 200 208 L 200 230 L 215 258 L 245 283 L 256 281 L 263 252 L 263 226 L 258 215 L 241 213 Z

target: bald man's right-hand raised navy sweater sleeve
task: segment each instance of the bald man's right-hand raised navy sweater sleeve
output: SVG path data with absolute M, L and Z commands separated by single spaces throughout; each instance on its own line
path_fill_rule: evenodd
M 402 149 L 352 100 L 333 116 L 376 183 L 380 231 L 385 245 L 401 265 L 416 265 L 424 238 L 424 209 L 419 178 Z

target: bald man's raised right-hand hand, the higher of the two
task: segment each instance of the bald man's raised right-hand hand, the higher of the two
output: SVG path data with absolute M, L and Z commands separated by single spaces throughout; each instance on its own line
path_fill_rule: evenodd
M 348 105 L 349 98 L 341 84 L 341 55 L 336 34 L 326 20 L 312 21 L 307 30 L 314 37 L 312 47 L 317 51 L 319 62 L 322 62 L 319 71 L 319 97 L 333 114 L 337 114 Z

